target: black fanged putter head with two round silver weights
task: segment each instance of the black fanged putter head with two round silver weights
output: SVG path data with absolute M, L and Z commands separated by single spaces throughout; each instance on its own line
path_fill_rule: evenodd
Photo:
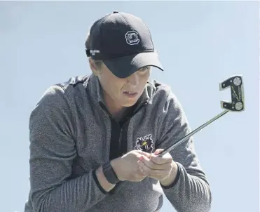
M 231 88 L 231 102 L 221 100 L 221 108 L 231 112 L 242 112 L 245 110 L 244 84 L 242 75 L 229 77 L 225 81 L 219 83 L 219 90 Z

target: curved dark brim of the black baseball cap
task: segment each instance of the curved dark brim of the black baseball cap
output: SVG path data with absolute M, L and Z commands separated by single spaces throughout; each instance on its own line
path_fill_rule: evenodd
M 155 52 L 137 53 L 120 58 L 103 60 L 103 62 L 118 78 L 129 77 L 138 69 L 146 66 L 157 67 L 163 71 L 163 66 L 160 64 L 158 54 Z

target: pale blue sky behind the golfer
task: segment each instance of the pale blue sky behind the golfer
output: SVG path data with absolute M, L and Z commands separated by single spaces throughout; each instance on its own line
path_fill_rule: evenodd
M 29 114 L 43 91 L 89 74 L 84 41 L 114 10 L 149 25 L 191 128 L 221 112 L 219 82 L 242 74 L 246 110 L 194 135 L 213 194 L 212 212 L 259 211 L 259 4 L 242 1 L 0 2 L 0 211 L 23 211 L 29 192 Z M 163 212 L 175 211 L 167 199 Z

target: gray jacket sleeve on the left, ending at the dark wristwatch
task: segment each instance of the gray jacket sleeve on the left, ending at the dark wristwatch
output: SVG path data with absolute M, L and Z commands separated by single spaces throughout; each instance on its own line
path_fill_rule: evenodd
M 30 198 L 34 211 L 85 211 L 106 197 L 94 170 L 71 178 L 76 157 L 74 108 L 59 86 L 48 88 L 29 117 Z

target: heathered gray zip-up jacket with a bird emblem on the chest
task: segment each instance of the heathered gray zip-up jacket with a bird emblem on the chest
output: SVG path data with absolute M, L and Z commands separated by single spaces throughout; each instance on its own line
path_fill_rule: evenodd
M 118 123 L 111 118 L 94 75 L 50 86 L 29 118 L 30 192 L 25 211 L 153 212 L 162 194 L 179 212 L 210 211 L 211 192 L 193 139 L 171 152 L 179 166 L 175 182 L 152 178 L 105 192 L 95 168 L 125 152 L 165 149 L 189 133 L 184 111 L 169 86 L 147 83 L 137 107 Z

